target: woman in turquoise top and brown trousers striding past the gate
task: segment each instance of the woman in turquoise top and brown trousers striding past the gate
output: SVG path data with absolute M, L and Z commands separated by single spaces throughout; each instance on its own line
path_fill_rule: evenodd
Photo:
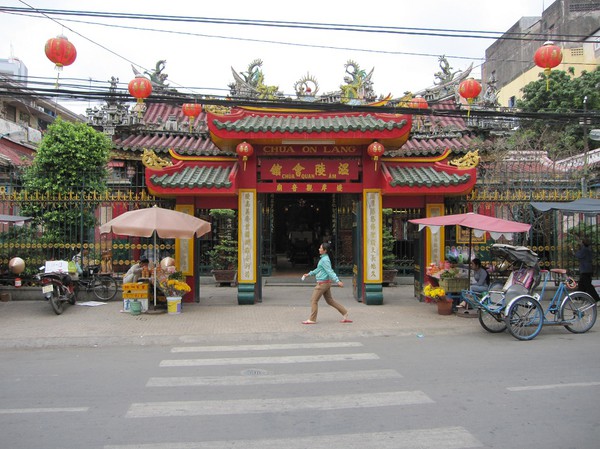
M 342 314 L 342 323 L 351 323 L 352 320 L 348 319 L 348 310 L 333 299 L 331 296 L 331 283 L 335 282 L 340 287 L 344 286 L 344 283 L 339 280 L 337 274 L 331 267 L 331 259 L 329 259 L 329 251 L 331 244 L 323 243 L 319 246 L 319 254 L 321 255 L 317 268 L 306 273 L 302 278 L 305 279 L 308 276 L 315 276 L 317 279 L 317 285 L 313 290 L 312 297 L 310 299 L 310 318 L 303 321 L 302 324 L 315 324 L 317 322 L 317 313 L 319 312 L 319 299 L 321 296 L 325 298 L 327 304 L 335 308 Z

